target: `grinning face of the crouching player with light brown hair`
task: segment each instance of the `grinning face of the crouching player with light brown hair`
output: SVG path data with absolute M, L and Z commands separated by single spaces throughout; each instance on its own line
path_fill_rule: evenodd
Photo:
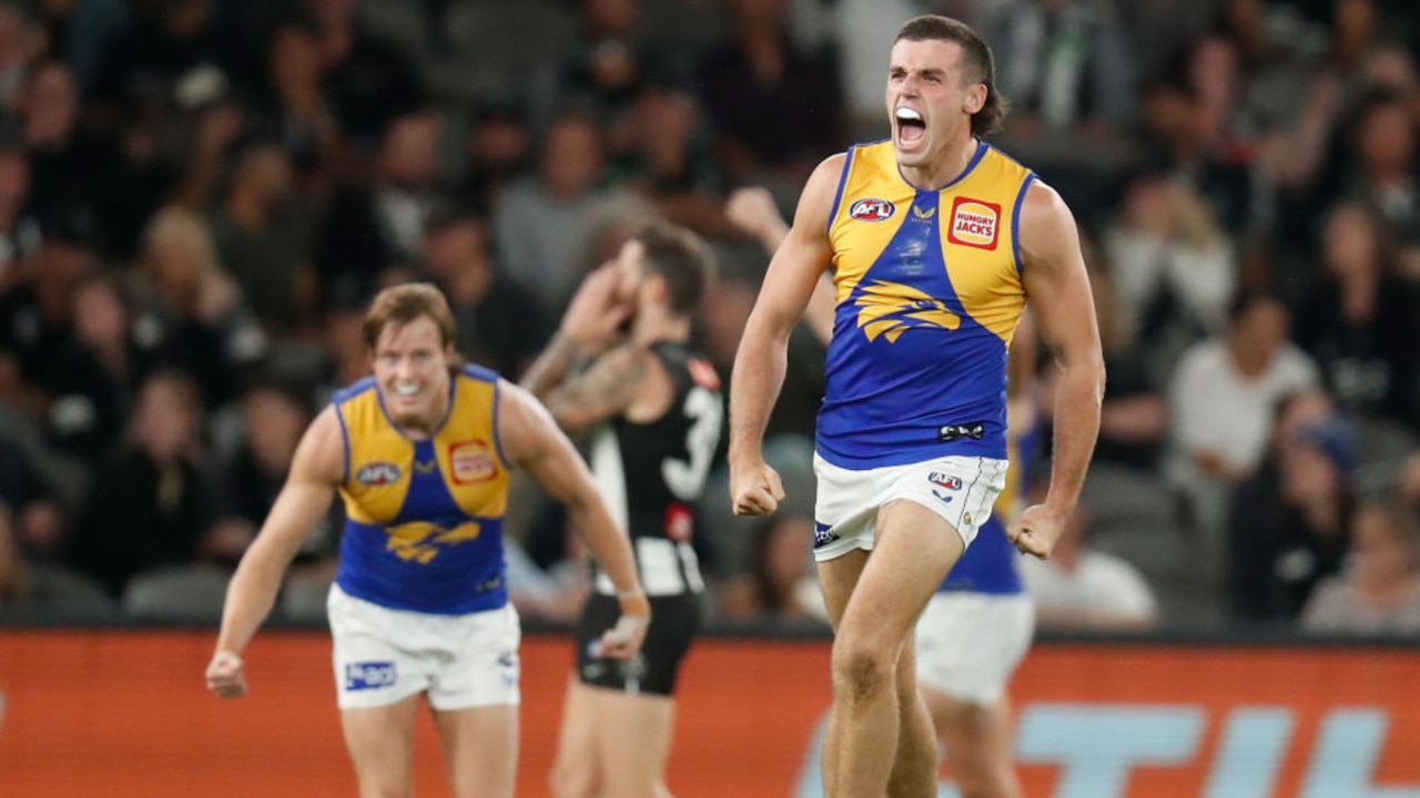
M 399 426 L 432 433 L 449 409 L 453 344 L 429 317 L 389 322 L 379 332 L 371 368 L 385 409 Z

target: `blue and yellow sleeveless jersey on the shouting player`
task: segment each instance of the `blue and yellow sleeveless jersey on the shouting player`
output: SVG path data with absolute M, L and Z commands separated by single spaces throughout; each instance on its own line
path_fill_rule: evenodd
M 984 142 L 939 190 L 902 176 L 892 142 L 848 151 L 828 223 L 825 460 L 1005 457 L 1007 348 L 1025 310 L 1018 223 L 1034 179 Z

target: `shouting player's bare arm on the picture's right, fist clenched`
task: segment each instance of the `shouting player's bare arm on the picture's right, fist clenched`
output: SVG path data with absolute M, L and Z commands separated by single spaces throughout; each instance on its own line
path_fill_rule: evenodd
M 1059 368 L 1051 483 L 1044 504 L 1008 530 L 1017 548 L 1048 557 L 1075 510 L 1099 434 L 1105 358 L 1095 302 L 1069 207 L 1054 189 L 1034 183 L 1021 207 L 1022 280 L 1035 327 Z

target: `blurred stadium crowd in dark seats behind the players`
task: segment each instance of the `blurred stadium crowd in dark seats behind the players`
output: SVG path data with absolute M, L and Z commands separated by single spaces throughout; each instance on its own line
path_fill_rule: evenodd
M 301 430 L 365 373 L 383 285 L 439 284 L 460 352 L 517 379 L 582 275 L 666 217 L 716 244 L 696 337 L 728 378 L 767 258 L 727 199 L 791 213 L 822 158 L 882 138 L 893 31 L 937 11 L 993 47 L 991 143 L 1075 210 L 1106 349 L 1078 523 L 1027 574 L 1042 626 L 1420 635 L 1403 6 L 0 3 L 0 608 L 216 618 Z M 733 517 L 721 466 L 699 530 L 726 623 L 824 623 L 824 351 L 790 351 L 788 503 Z M 569 621 L 581 554 L 518 491 L 514 601 Z M 312 530 L 285 616 L 322 616 L 338 530 Z

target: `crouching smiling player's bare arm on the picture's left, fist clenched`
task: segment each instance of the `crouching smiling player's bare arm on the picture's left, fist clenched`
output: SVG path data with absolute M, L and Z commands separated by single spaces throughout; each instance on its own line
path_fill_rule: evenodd
M 275 605 L 287 567 L 329 508 L 344 471 L 345 443 L 332 405 L 305 430 L 285 486 L 227 585 L 217 649 L 207 665 L 207 689 L 223 699 L 247 692 L 241 652 Z

